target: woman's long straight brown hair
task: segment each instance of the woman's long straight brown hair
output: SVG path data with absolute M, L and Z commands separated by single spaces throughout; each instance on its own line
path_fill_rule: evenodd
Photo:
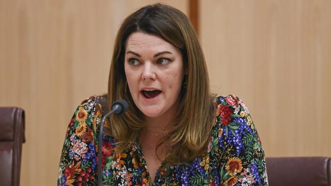
M 164 142 L 170 146 L 171 153 L 165 158 L 168 163 L 193 160 L 206 152 L 215 109 L 198 36 L 186 15 L 168 5 L 143 7 L 129 15 L 120 26 L 109 72 L 108 103 L 125 99 L 129 110 L 122 116 L 113 115 L 106 122 L 105 134 L 117 139 L 119 149 L 126 150 L 145 126 L 144 114 L 136 107 L 126 87 L 124 72 L 126 40 L 134 32 L 158 35 L 182 52 L 183 65 L 188 72 L 185 75 L 187 87 L 181 89 L 180 112 L 174 116 L 168 135 L 158 146 Z

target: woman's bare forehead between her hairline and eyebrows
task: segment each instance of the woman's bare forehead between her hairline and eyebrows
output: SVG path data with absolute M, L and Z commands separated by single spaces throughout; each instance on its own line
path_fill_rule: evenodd
M 142 32 L 132 33 L 126 42 L 125 50 L 176 50 L 171 43 L 163 40 L 160 36 Z

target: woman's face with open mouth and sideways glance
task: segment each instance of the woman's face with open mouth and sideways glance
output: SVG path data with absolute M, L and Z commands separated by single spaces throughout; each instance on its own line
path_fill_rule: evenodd
M 180 49 L 157 35 L 136 32 L 127 39 L 124 63 L 131 96 L 145 116 L 174 116 L 184 78 Z

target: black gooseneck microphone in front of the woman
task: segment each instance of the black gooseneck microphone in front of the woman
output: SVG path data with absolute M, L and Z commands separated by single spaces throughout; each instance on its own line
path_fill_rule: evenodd
M 129 108 L 128 102 L 125 100 L 117 100 L 113 103 L 112 105 L 112 110 L 108 112 L 106 115 L 102 117 L 101 123 L 100 123 L 100 131 L 99 131 L 99 147 L 98 147 L 98 186 L 101 185 L 101 180 L 102 180 L 102 169 L 101 169 L 101 164 L 102 164 L 102 132 L 103 132 L 103 125 L 107 117 L 109 117 L 111 114 L 118 114 L 121 115 L 125 111 L 127 111 Z

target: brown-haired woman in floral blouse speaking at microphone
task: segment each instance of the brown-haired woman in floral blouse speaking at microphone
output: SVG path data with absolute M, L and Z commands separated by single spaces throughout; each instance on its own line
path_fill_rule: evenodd
M 268 184 L 247 108 L 232 95 L 212 97 L 198 37 L 179 10 L 155 4 L 124 20 L 106 97 L 76 109 L 59 185 L 96 184 L 100 118 L 118 99 L 130 107 L 105 124 L 104 185 Z

